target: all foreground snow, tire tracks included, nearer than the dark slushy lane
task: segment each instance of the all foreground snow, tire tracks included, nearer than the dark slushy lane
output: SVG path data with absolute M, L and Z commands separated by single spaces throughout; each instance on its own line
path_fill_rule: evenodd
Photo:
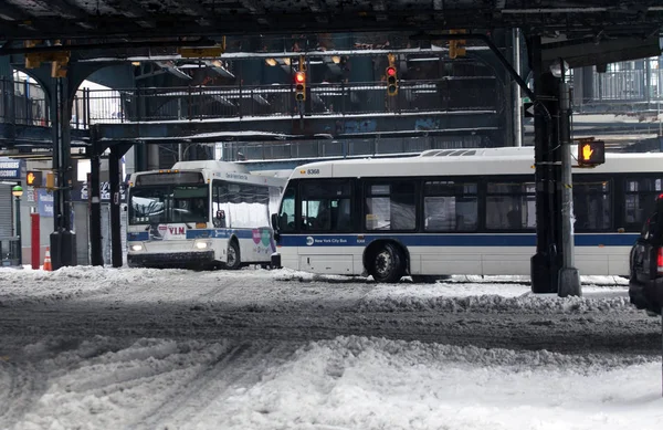
M 663 408 L 660 363 L 640 356 L 357 336 L 23 350 L 0 360 L 0 428 L 657 430 Z

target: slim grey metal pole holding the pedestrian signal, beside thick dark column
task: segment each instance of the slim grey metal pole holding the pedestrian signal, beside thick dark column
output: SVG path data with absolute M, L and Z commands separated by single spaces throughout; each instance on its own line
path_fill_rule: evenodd
M 565 82 L 564 61 L 560 59 L 559 83 L 559 144 L 561 145 L 561 249 L 562 264 L 559 270 L 557 294 L 560 297 L 582 295 L 580 274 L 575 268 L 573 247 L 573 179 L 571 177 L 571 103 L 569 86 Z

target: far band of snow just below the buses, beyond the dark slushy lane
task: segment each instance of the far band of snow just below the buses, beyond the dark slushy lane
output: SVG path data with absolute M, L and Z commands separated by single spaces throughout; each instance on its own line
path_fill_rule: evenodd
M 377 284 L 361 277 L 322 276 L 290 270 L 194 272 L 75 266 L 44 272 L 0 269 L 0 306 L 112 295 L 118 302 L 190 301 L 192 306 L 201 308 L 211 308 L 215 303 L 235 303 L 254 312 L 286 312 L 327 300 L 343 301 L 360 312 L 636 312 L 621 285 L 587 286 L 583 297 L 569 298 L 535 295 L 529 291 L 527 284 L 513 282 L 451 280 L 435 284 L 411 281 Z

